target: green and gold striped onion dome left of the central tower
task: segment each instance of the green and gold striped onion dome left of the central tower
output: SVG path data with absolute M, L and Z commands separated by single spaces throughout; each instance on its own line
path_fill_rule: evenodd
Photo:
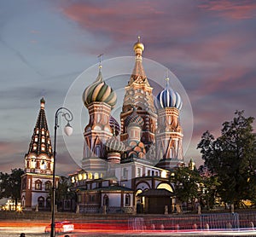
M 113 109 L 117 102 L 115 92 L 103 81 L 101 70 L 99 70 L 96 81 L 84 90 L 82 99 L 85 107 L 88 107 L 92 102 L 105 102 Z

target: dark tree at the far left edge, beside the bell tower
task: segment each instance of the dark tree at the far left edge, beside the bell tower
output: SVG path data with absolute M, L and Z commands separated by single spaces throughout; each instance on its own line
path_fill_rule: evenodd
M 0 199 L 10 198 L 18 205 L 20 199 L 21 176 L 24 171 L 21 169 L 11 170 L 11 173 L 0 172 Z

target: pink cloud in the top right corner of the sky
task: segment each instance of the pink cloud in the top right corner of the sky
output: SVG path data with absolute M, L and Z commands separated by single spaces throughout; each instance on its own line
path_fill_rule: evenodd
M 252 19 L 256 16 L 256 3 L 253 1 L 216 0 L 202 3 L 199 7 L 233 20 Z

